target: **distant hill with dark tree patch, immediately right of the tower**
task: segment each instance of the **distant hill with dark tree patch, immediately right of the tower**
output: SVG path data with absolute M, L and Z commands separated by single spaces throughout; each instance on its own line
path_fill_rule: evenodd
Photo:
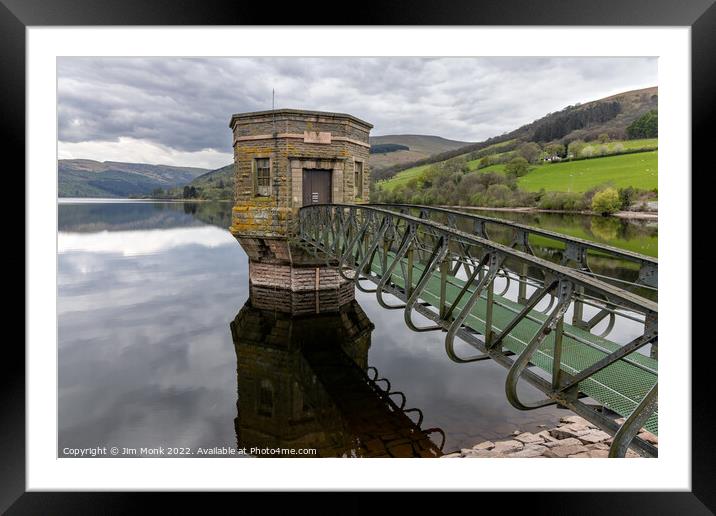
M 385 136 L 372 136 L 370 138 L 371 146 L 401 145 L 408 147 L 408 150 L 395 150 L 391 152 L 373 152 L 371 151 L 369 164 L 372 171 L 380 171 L 382 169 L 400 165 L 403 163 L 412 163 L 414 161 L 428 158 L 434 154 L 459 149 L 469 142 L 461 142 L 456 140 L 448 140 L 440 136 L 429 136 L 421 134 L 390 134 Z M 378 147 L 380 148 L 380 147 Z

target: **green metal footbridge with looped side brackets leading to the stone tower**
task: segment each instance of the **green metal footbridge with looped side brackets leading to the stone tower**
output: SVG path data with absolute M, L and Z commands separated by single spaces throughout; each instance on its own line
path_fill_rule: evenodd
M 447 223 L 431 220 L 439 216 Z M 301 209 L 298 234 L 381 306 L 403 310 L 411 329 L 446 332 L 452 360 L 493 359 L 507 367 L 513 406 L 558 403 L 614 434 L 610 456 L 624 456 L 628 446 L 656 456 L 655 446 L 635 436 L 643 426 L 658 435 L 657 305 L 615 285 L 655 294 L 656 260 L 550 233 L 564 244 L 555 263 L 530 253 L 530 235 L 548 232 L 489 219 L 513 231 L 508 246 L 490 239 L 484 224 L 462 231 L 455 222 L 463 217 L 486 219 L 427 207 L 313 205 Z M 589 253 L 636 262 L 635 281 L 594 274 Z M 435 324 L 418 325 L 415 312 Z M 456 337 L 481 353 L 460 356 Z M 520 379 L 546 397 L 520 399 Z

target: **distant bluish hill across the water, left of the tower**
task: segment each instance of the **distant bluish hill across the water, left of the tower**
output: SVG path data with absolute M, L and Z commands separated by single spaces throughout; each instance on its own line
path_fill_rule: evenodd
M 129 197 L 147 195 L 157 188 L 184 185 L 205 168 L 61 159 L 58 161 L 60 197 Z

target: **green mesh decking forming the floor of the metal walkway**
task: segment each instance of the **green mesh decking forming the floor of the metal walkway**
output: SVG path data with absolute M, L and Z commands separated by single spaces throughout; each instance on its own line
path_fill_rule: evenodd
M 394 255 L 393 255 L 394 256 Z M 390 256 L 388 260 L 392 260 Z M 371 265 L 372 271 L 381 275 L 382 268 L 375 260 Z M 407 261 L 403 261 L 403 267 L 407 268 Z M 420 264 L 413 265 L 413 287 L 417 285 L 417 281 L 423 272 Z M 405 288 L 405 278 L 401 271 L 401 266 L 394 269 L 392 274 L 392 282 L 401 289 Z M 451 306 L 452 302 L 457 298 L 460 290 L 465 285 L 465 281 L 451 276 L 446 286 L 446 304 Z M 470 290 L 471 291 L 471 290 Z M 428 283 L 421 293 L 423 301 L 430 303 L 434 307 L 440 304 L 440 273 L 435 272 L 428 280 Z M 465 294 L 458 302 L 456 309 L 461 308 L 467 302 L 468 294 Z M 493 330 L 501 331 L 522 309 L 522 305 L 511 301 L 505 297 L 494 295 L 494 307 L 492 313 Z M 465 319 L 464 325 L 481 334 L 485 332 L 485 313 L 486 313 L 486 293 L 483 293 L 481 299 L 475 303 L 470 314 Z M 457 312 L 456 312 L 457 313 Z M 523 319 L 502 341 L 504 348 L 515 354 L 520 354 L 529 344 L 532 337 L 540 328 L 542 322 L 547 315 L 533 310 L 530 317 L 533 320 Z M 545 341 L 533 355 L 531 362 L 539 369 L 551 374 L 552 372 L 552 352 L 554 348 L 554 332 L 547 335 Z M 576 338 L 575 338 L 576 337 Z M 586 341 L 589 344 L 585 344 Z M 562 356 L 561 369 L 568 374 L 576 374 L 592 364 L 602 359 L 607 354 L 619 349 L 621 346 L 610 340 L 598 337 L 589 331 L 564 323 L 564 336 L 562 338 Z M 622 417 L 629 417 L 639 402 L 656 384 L 657 377 L 657 360 L 643 355 L 639 352 L 633 352 L 626 357 L 626 360 L 619 360 L 601 371 L 595 373 L 591 377 L 580 382 L 579 390 L 598 401 L 605 407 L 613 410 Z M 658 413 L 649 418 L 644 425 L 647 430 L 658 435 Z

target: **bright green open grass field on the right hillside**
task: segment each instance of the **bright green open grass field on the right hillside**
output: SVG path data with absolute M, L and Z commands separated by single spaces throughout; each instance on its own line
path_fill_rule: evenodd
M 657 151 L 536 166 L 517 180 L 523 190 L 586 192 L 610 183 L 617 188 L 658 188 Z M 483 170 L 488 170 L 488 167 Z

